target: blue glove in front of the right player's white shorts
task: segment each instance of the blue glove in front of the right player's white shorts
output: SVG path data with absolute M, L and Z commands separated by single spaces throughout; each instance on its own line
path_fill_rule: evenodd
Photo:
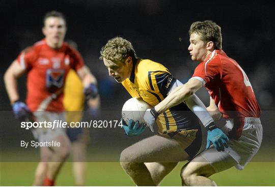
M 228 148 L 229 139 L 226 134 L 211 122 L 207 127 L 207 143 L 206 148 L 210 147 L 212 142 L 217 151 L 224 151 L 225 147 Z

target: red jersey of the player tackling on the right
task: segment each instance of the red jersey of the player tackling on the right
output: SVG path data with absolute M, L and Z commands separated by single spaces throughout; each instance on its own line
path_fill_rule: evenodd
M 223 50 L 214 50 L 195 69 L 192 78 L 201 80 L 224 118 L 234 118 L 229 135 L 238 138 L 244 117 L 260 117 L 261 109 L 251 83 L 238 65 Z

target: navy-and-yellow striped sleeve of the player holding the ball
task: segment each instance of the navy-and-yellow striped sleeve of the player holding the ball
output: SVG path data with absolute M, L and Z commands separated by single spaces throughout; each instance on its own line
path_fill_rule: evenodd
M 169 72 L 164 71 L 148 72 L 148 80 L 151 90 L 160 93 L 163 98 L 166 98 L 171 86 L 176 81 Z

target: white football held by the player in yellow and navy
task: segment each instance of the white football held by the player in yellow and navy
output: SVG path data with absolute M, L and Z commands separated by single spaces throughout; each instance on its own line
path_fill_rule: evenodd
M 145 123 L 143 116 L 145 111 L 152 108 L 148 103 L 141 98 L 131 98 L 127 100 L 122 107 L 122 118 L 128 124 L 129 120 L 139 121 L 139 123 Z

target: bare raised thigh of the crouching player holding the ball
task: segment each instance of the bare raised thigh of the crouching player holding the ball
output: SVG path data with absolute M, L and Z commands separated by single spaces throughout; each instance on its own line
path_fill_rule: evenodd
M 182 145 L 167 136 L 143 139 L 121 153 L 121 162 L 179 162 L 189 158 Z

